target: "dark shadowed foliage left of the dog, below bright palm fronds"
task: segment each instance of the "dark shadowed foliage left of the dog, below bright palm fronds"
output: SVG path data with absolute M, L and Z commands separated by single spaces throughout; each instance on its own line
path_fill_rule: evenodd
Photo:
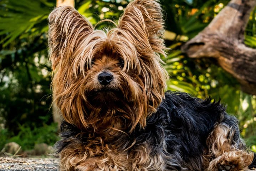
M 52 122 L 48 109 L 51 98 L 47 99 L 51 93 L 51 69 L 45 34 L 21 38 L 9 45 L 10 50 L 0 51 L 0 119 L 14 133 L 19 132 L 18 123 L 42 126 Z

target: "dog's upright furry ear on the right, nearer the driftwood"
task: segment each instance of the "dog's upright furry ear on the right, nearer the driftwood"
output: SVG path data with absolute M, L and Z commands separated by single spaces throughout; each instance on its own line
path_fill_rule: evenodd
M 118 27 L 133 38 L 139 53 L 148 51 L 151 47 L 154 52 L 165 54 L 163 24 L 158 0 L 134 0 L 126 7 Z

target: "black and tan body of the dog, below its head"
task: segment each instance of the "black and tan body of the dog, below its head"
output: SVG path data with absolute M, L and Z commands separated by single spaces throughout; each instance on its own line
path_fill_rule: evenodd
M 166 92 L 147 126 L 136 127 L 129 135 L 91 137 L 92 131 L 67 122 L 61 129 L 62 140 L 55 147 L 67 170 L 215 171 L 233 165 L 242 170 L 253 157 L 246 153 L 235 117 L 219 103 L 184 93 Z

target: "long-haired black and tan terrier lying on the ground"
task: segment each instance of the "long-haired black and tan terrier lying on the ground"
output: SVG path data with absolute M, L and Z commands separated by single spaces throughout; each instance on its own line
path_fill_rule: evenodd
M 164 92 L 161 7 L 130 2 L 115 28 L 94 30 L 68 6 L 49 16 L 55 145 L 65 171 L 239 171 L 254 167 L 219 102 Z

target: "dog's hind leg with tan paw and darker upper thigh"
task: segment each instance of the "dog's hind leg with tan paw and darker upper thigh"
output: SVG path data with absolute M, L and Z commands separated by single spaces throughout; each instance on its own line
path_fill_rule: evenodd
M 205 158 L 209 162 L 208 171 L 245 170 L 254 158 L 240 138 L 237 122 L 232 116 L 224 115 L 222 122 L 215 125 L 207 145 L 209 149 Z

